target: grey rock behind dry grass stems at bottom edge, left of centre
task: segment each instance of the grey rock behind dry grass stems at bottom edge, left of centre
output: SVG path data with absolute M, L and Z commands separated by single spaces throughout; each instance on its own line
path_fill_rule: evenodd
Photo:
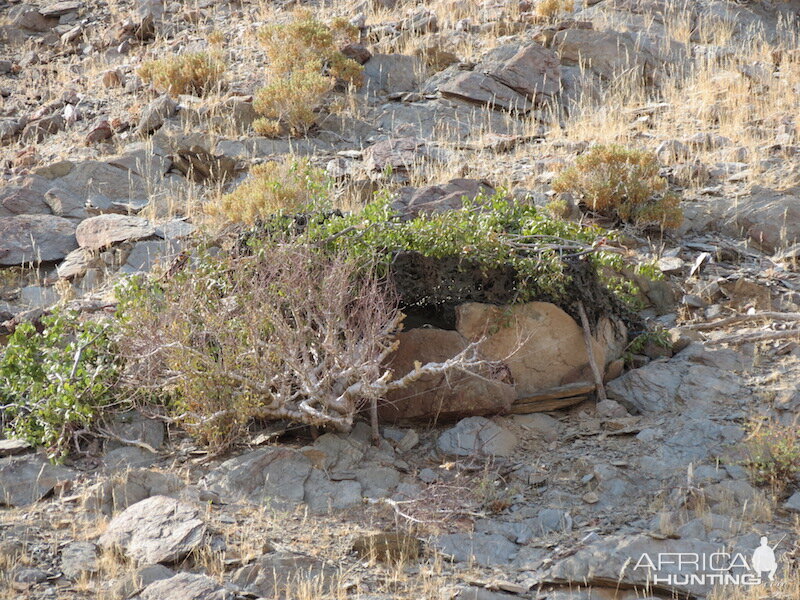
M 336 569 L 317 558 L 291 552 L 274 552 L 242 567 L 233 574 L 232 582 L 240 588 L 265 598 L 292 597 L 298 582 L 318 585 L 328 590 Z

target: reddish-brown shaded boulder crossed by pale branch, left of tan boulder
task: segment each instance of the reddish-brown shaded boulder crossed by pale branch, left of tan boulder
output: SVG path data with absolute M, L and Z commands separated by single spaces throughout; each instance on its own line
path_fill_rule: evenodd
M 414 369 L 415 362 L 444 362 L 464 350 L 468 342 L 457 331 L 411 329 L 400 333 L 399 346 L 388 366 L 395 378 Z M 516 398 L 514 386 L 498 379 L 469 373 L 428 375 L 405 389 L 391 392 L 380 407 L 382 420 L 452 420 L 508 410 Z

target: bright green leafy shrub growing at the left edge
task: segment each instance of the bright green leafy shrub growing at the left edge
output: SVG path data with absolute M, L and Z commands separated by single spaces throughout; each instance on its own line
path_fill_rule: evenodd
M 42 326 L 20 324 L 0 351 L 2 419 L 9 435 L 59 457 L 114 402 L 118 366 L 107 324 L 53 314 Z

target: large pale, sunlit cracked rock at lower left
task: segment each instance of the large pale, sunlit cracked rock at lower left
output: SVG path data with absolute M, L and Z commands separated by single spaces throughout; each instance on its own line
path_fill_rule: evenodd
M 152 496 L 112 519 L 100 545 L 116 548 L 139 564 L 174 563 L 197 548 L 205 532 L 199 509 L 174 498 Z

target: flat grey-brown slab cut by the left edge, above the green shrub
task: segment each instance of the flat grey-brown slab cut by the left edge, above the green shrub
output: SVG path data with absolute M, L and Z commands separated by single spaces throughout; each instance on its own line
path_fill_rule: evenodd
M 61 260 L 78 247 L 75 224 L 53 215 L 0 218 L 0 266 Z

